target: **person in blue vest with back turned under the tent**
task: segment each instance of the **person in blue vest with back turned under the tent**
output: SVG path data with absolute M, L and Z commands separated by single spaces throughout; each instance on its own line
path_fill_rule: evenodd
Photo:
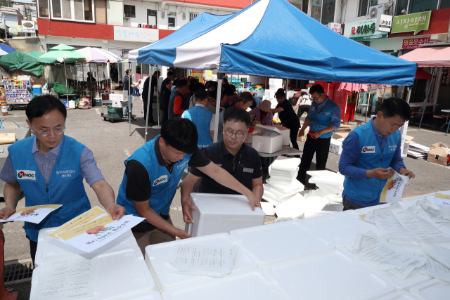
M 208 93 L 204 89 L 195 91 L 195 106 L 189 108 L 182 118 L 190 119 L 197 127 L 199 149 L 212 144 L 214 138 L 214 112 L 207 110 L 205 105 L 208 102 Z

